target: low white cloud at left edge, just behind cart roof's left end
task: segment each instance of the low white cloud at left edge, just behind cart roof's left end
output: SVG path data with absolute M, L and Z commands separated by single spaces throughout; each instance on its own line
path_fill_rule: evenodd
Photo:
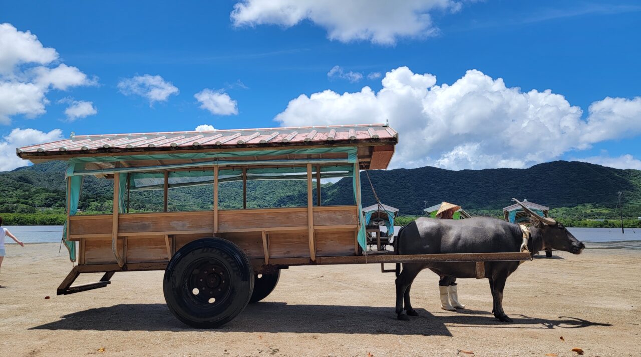
M 22 160 L 15 154 L 17 147 L 61 139 L 62 130 L 60 129 L 53 129 L 48 133 L 36 129 L 13 129 L 9 135 L 0 140 L 0 171 L 28 165 L 28 160 Z

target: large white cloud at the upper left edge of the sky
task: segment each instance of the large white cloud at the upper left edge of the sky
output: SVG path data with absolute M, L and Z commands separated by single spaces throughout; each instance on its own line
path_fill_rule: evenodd
M 55 62 L 56 50 L 42 46 L 35 35 L 0 24 L 0 124 L 10 124 L 14 115 L 46 113 L 50 90 L 97 84 L 78 68 Z

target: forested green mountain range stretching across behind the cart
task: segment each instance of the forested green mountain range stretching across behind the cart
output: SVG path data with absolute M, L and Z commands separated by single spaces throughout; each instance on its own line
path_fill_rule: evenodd
M 0 212 L 31 213 L 42 208 L 63 210 L 64 162 L 47 162 L 0 172 Z M 620 170 L 582 162 L 550 162 L 529 169 L 444 170 L 418 169 L 371 170 L 372 185 L 383 203 L 399 208 L 401 215 L 420 215 L 424 201 L 428 206 L 449 201 L 476 214 L 499 215 L 510 199 L 528 199 L 574 219 L 616 218 L 617 192 L 622 192 L 624 216 L 641 216 L 641 170 Z M 363 206 L 376 203 L 367 175 L 361 172 Z M 85 178 L 79 210 L 110 212 L 112 183 Z M 219 190 L 222 208 L 242 207 L 242 183 L 222 183 Z M 314 192 L 315 195 L 315 192 Z M 162 210 L 162 191 L 131 192 L 130 208 L 135 211 Z M 352 204 L 351 179 L 323 185 L 323 204 Z M 249 208 L 304 206 L 305 181 L 249 181 Z M 170 190 L 170 210 L 211 209 L 211 186 Z M 563 208 L 560 210 L 559 208 Z

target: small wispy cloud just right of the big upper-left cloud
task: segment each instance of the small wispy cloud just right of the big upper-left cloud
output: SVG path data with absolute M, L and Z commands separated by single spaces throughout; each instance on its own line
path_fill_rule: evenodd
M 171 82 L 165 81 L 161 76 L 152 76 L 151 74 L 122 79 L 118 83 L 118 89 L 124 95 L 139 95 L 146 98 L 150 106 L 154 102 L 167 101 L 169 95 L 176 95 L 180 92 Z

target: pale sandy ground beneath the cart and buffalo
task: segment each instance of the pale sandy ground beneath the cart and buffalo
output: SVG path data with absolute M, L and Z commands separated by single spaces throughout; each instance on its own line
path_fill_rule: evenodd
M 71 269 L 64 253 L 58 244 L 7 247 L 0 356 L 576 356 L 572 347 L 585 356 L 641 354 L 639 250 L 587 249 L 526 262 L 505 290 L 513 324 L 490 314 L 486 279 L 460 280 L 467 309 L 440 310 L 429 271 L 412 289 L 420 317 L 398 321 L 394 274 L 371 264 L 283 270 L 265 301 L 217 330 L 174 319 L 162 272 L 117 273 L 106 288 L 56 296 Z

